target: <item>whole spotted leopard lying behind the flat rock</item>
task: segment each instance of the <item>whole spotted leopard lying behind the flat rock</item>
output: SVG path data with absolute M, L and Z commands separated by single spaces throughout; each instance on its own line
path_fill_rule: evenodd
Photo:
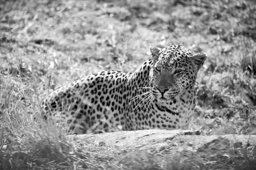
M 207 60 L 182 45 L 151 45 L 134 72 L 101 71 L 62 86 L 41 102 L 44 118 L 73 134 L 187 129 L 196 104 L 195 81 Z

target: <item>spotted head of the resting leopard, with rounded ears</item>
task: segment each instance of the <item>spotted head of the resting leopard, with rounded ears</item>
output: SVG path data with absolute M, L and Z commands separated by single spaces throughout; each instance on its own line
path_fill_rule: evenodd
M 198 70 L 205 60 L 206 53 L 193 53 L 181 45 L 160 49 L 150 46 L 153 65 L 150 80 L 153 95 L 160 102 L 180 99 L 194 88 Z

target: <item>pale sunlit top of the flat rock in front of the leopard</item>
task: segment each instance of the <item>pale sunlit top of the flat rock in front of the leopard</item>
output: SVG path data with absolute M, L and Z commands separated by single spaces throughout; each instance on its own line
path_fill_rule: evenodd
M 118 131 L 110 133 L 101 133 L 95 135 L 75 135 L 70 136 L 73 141 L 93 141 L 94 143 L 104 142 L 108 146 L 119 148 L 135 148 L 136 146 L 142 146 L 147 144 L 146 148 L 155 148 L 159 144 L 166 144 L 169 146 L 170 142 L 181 143 L 185 141 L 188 144 L 193 144 L 197 148 L 200 148 L 204 144 L 207 144 L 214 139 L 220 137 L 228 139 L 231 143 L 235 144 L 241 142 L 243 146 L 247 143 L 250 145 L 256 145 L 256 135 L 193 135 L 198 132 L 191 132 L 191 130 L 135 130 L 135 131 Z

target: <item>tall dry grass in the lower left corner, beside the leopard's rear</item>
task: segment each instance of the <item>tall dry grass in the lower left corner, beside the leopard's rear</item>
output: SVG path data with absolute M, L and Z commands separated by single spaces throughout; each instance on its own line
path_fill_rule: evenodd
M 1 77 L 0 169 L 96 168 L 97 165 L 74 150 L 74 144 L 66 138 L 65 131 L 56 126 L 56 122 L 43 122 L 38 104 L 31 108 L 33 102 L 37 102 L 29 101 L 33 92 L 26 94 L 25 105 L 20 86 L 15 79 Z M 26 91 L 26 86 L 23 89 Z

